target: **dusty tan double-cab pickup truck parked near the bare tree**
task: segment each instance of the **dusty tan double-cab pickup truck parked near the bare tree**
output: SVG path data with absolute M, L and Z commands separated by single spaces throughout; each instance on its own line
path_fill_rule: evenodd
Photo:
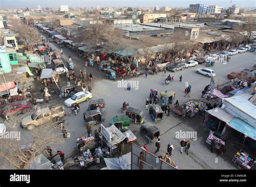
M 45 107 L 44 109 L 37 109 L 35 113 L 25 116 L 21 121 L 21 128 L 26 128 L 31 131 L 35 126 L 43 125 L 51 121 L 58 121 L 60 118 L 66 116 L 63 105 L 57 107 Z

